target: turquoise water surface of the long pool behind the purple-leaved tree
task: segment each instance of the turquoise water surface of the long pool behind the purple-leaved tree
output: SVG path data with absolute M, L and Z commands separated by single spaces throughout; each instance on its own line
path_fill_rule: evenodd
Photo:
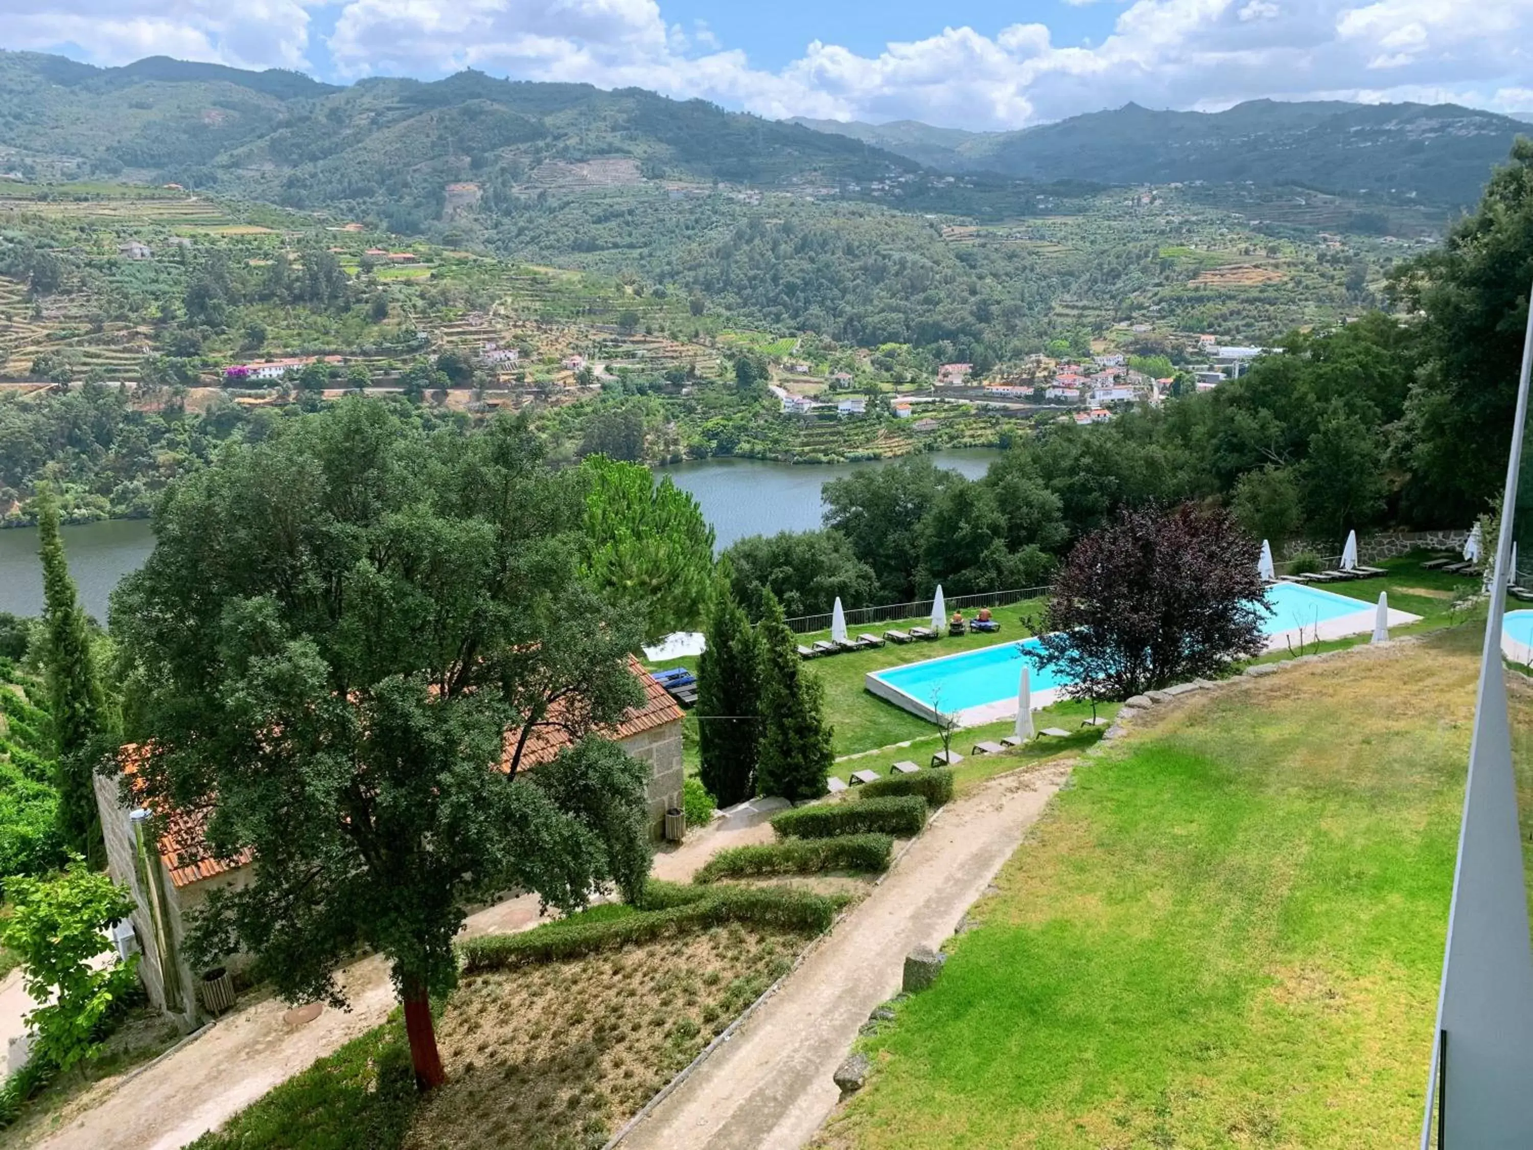
M 1269 587 L 1266 601 L 1271 610 L 1271 618 L 1262 627 L 1266 635 L 1298 630 L 1300 627 L 1309 629 L 1317 623 L 1369 609 L 1369 604 L 1361 600 L 1332 595 L 1317 587 L 1302 587 L 1297 583 L 1279 583 Z M 1528 612 L 1528 623 L 1533 629 L 1533 612 Z M 877 672 L 874 678 L 940 711 L 961 711 L 969 707 L 1015 699 L 1024 653 L 1039 647 L 1038 639 L 1003 642 L 995 647 L 967 650 L 961 655 L 891 667 Z M 1032 659 L 1027 659 L 1026 665 L 1032 669 L 1032 688 L 1035 692 L 1065 684 L 1065 679 L 1056 672 L 1039 670 Z

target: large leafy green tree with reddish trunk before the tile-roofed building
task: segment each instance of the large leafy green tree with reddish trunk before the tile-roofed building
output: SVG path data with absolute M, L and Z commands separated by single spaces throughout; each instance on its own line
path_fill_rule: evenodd
M 592 736 L 642 696 L 638 630 L 581 581 L 581 498 L 521 420 L 432 435 L 350 399 L 176 481 L 113 596 L 146 797 L 254 853 L 192 952 L 250 952 L 296 1001 L 386 955 L 426 1087 L 469 903 L 648 868 L 647 768 Z M 572 748 L 526 770 L 553 731 Z

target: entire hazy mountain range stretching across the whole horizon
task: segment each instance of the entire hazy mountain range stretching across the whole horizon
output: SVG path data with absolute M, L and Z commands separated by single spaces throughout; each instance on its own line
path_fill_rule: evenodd
M 996 179 L 1249 182 L 1458 207 L 1475 202 L 1519 130 L 1453 104 L 1256 100 L 1216 113 L 1127 104 L 1019 132 L 964 132 L 773 121 L 636 87 L 474 71 L 336 86 L 166 57 L 95 67 L 0 52 L 0 173 L 175 181 L 371 212 L 406 230 L 449 210 L 455 182 L 472 182 L 494 213 L 529 187 L 866 184 L 923 167 L 986 173 L 992 189 Z

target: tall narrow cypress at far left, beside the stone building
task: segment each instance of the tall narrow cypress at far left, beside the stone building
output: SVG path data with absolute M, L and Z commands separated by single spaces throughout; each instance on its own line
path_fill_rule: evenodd
M 43 560 L 43 621 L 48 624 L 48 695 L 54 719 L 58 761 L 58 830 L 72 851 L 92 865 L 106 860 L 101 813 L 92 777 L 104 716 L 101 681 L 90 652 L 86 613 L 64 560 L 58 531 L 58 503 L 46 488 L 38 491 L 38 543 Z

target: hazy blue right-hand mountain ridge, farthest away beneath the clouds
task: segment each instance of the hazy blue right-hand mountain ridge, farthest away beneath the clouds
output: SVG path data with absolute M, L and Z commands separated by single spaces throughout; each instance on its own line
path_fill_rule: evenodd
M 964 132 L 914 120 L 805 120 L 943 172 L 1101 184 L 1252 182 L 1413 196 L 1467 205 L 1527 126 L 1458 104 L 1251 100 L 1223 112 L 1139 104 L 1018 132 Z

